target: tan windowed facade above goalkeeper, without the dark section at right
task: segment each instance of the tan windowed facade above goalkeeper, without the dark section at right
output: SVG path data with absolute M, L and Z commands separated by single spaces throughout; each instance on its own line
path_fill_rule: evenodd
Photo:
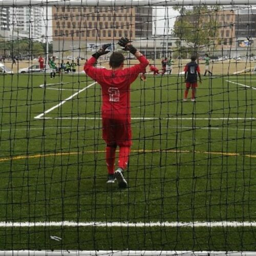
M 124 7 L 53 7 L 53 40 L 135 38 L 135 11 Z M 70 43 L 69 43 L 70 44 Z

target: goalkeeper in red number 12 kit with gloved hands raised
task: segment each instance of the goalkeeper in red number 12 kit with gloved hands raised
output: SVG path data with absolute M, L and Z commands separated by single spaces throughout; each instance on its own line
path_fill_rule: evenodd
M 106 142 L 106 165 L 108 167 L 107 183 L 114 183 L 115 179 L 120 188 L 127 187 L 123 171 L 129 161 L 132 145 L 131 131 L 131 103 L 130 86 L 138 75 L 145 71 L 148 60 L 131 45 L 127 38 L 118 41 L 123 50 L 130 51 L 139 60 L 139 64 L 130 68 L 123 68 L 124 56 L 114 52 L 110 56 L 111 69 L 97 69 L 94 64 L 106 51 L 110 44 L 103 45 L 84 64 L 84 72 L 101 86 L 102 92 L 102 137 Z M 116 148 L 119 146 L 118 168 L 115 170 Z

